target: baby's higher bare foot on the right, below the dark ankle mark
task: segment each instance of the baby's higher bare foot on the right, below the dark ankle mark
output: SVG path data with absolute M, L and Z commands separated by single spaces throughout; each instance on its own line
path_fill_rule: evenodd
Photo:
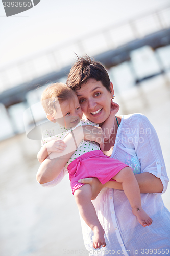
M 133 214 L 137 217 L 139 223 L 143 226 L 149 226 L 152 224 L 152 219 L 149 215 L 142 209 L 142 207 L 135 206 L 132 208 Z

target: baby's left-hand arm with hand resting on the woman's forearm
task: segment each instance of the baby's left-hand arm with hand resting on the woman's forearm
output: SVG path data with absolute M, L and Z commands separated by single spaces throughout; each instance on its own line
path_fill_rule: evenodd
M 38 161 L 42 163 L 51 152 L 63 152 L 66 146 L 62 140 L 51 140 L 47 142 L 37 154 Z

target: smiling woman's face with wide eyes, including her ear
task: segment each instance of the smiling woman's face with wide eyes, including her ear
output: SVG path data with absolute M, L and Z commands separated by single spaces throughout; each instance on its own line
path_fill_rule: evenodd
M 113 84 L 110 83 L 111 93 L 101 81 L 90 78 L 76 90 L 79 103 L 84 115 L 94 123 L 103 123 L 110 115 L 110 99 L 113 97 Z

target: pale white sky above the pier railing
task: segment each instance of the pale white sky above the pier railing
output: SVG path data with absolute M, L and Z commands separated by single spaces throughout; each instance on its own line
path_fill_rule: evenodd
M 123 20 L 170 5 L 170 0 L 41 0 L 6 17 L 0 2 L 0 69 Z

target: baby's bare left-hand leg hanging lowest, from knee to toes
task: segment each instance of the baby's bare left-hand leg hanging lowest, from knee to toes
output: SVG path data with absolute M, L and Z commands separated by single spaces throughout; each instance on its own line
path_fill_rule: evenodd
M 101 245 L 105 247 L 105 231 L 98 220 L 95 208 L 91 202 L 91 186 L 89 184 L 83 185 L 75 191 L 74 196 L 83 220 L 94 232 L 93 247 L 100 248 Z

